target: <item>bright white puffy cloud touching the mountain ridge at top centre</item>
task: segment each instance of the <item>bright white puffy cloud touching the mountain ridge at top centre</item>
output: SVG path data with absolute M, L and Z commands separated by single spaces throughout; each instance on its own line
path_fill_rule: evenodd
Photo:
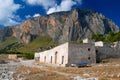
M 71 10 L 72 6 L 76 4 L 81 4 L 81 0 L 62 0 L 60 5 L 55 5 L 54 7 L 49 8 L 47 14 L 51 14 L 53 12 L 60 12 L 60 11 L 68 11 Z

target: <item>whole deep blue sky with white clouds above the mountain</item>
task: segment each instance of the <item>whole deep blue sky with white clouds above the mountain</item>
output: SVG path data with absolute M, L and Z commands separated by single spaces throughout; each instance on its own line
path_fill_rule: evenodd
M 120 0 L 0 0 L 0 27 L 73 8 L 95 10 L 120 26 Z

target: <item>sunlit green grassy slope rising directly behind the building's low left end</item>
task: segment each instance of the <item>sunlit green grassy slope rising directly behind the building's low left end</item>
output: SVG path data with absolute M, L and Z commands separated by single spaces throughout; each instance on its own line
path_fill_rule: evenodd
M 31 43 L 24 45 L 23 48 L 18 51 L 22 52 L 36 52 L 36 51 L 44 51 L 55 47 L 57 43 L 53 42 L 50 36 L 39 36 Z

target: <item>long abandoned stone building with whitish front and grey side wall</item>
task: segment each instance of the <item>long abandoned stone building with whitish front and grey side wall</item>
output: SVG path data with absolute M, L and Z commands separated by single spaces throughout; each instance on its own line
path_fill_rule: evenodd
M 96 63 L 95 46 L 89 43 L 64 43 L 51 50 L 35 53 L 35 61 L 58 66 L 70 66 L 72 63 Z

